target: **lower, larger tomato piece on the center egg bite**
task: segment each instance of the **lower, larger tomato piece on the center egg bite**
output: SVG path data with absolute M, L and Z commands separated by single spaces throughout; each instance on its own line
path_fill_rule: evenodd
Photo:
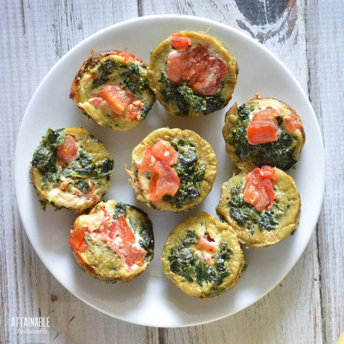
M 174 196 L 179 189 L 180 179 L 178 175 L 163 160 L 155 162 L 153 167 L 154 175 L 149 187 L 150 200 L 160 200 L 165 194 Z

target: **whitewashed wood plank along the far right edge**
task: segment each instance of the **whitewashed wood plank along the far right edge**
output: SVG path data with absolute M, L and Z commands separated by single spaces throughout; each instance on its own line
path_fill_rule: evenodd
M 326 343 L 335 343 L 344 328 L 344 138 L 341 115 L 344 106 L 341 62 L 344 18 L 341 7 L 342 3 L 338 1 L 316 1 L 312 6 L 309 4 L 306 11 L 310 98 L 322 128 L 327 164 L 324 218 L 319 223 L 317 236 Z

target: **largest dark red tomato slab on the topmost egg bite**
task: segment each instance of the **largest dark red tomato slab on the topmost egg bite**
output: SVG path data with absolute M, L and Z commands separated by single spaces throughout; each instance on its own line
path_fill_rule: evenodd
M 197 94 L 215 95 L 228 69 L 208 48 L 198 44 L 194 48 L 173 51 L 167 61 L 167 74 L 174 84 L 189 80 L 187 86 Z

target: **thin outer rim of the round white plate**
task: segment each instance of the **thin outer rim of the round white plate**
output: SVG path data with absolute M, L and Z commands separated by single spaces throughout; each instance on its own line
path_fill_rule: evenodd
M 197 321 L 194 321 L 193 323 L 191 324 L 182 324 L 182 325 L 161 325 L 161 324 L 157 324 L 157 325 L 154 325 L 154 324 L 149 324 L 149 323 L 145 323 L 145 322 L 140 322 L 140 321 L 131 321 L 131 320 L 127 320 L 127 319 L 123 319 L 121 318 L 120 316 L 115 316 L 113 314 L 110 314 L 110 312 L 106 311 L 106 310 L 103 310 L 103 309 L 100 309 L 98 308 L 96 305 L 94 305 L 92 302 L 88 301 L 86 298 L 84 298 L 83 296 L 80 296 L 80 295 L 76 295 L 74 292 L 72 292 L 66 285 L 65 283 L 63 283 L 60 279 L 58 279 L 55 274 L 53 273 L 53 271 L 51 271 L 47 265 L 45 264 L 45 261 L 42 259 L 40 253 L 37 251 L 36 249 L 36 246 L 33 242 L 33 237 L 30 236 L 30 234 L 28 233 L 28 230 L 26 229 L 26 226 L 22 220 L 23 218 L 23 215 L 22 215 L 22 210 L 19 206 L 19 197 L 18 195 L 20 194 L 20 190 L 18 190 L 18 182 L 16 182 L 16 180 L 19 178 L 19 171 L 18 171 L 18 160 L 19 159 L 19 138 L 21 137 L 22 135 L 22 131 L 24 130 L 23 128 L 23 121 L 24 119 L 28 116 L 28 113 L 29 113 L 29 110 L 30 108 L 32 107 L 32 104 L 34 103 L 34 100 L 35 98 L 37 97 L 37 95 L 40 93 L 40 90 L 41 88 L 43 87 L 45 81 L 47 79 L 49 79 L 50 77 L 50 74 L 52 73 L 52 71 L 60 64 L 63 64 L 64 60 L 66 59 L 66 57 L 71 54 L 73 51 L 75 51 L 76 49 L 78 49 L 78 47 L 80 45 L 83 45 L 85 44 L 88 40 L 92 39 L 92 37 L 96 36 L 96 35 L 99 35 L 101 33 L 104 33 L 106 31 L 111 31 L 113 30 L 114 28 L 116 28 L 117 26 L 120 26 L 120 25 L 123 25 L 123 24 L 127 24 L 129 22 L 137 22 L 137 21 L 144 21 L 144 20 L 151 20 L 152 18 L 182 18 L 183 20 L 195 20 L 196 21 L 206 21 L 207 23 L 211 24 L 216 24 L 216 25 L 219 25 L 221 26 L 222 28 L 226 29 L 226 30 L 230 30 L 230 31 L 233 31 L 235 34 L 238 34 L 240 37 L 243 37 L 243 39 L 246 39 L 248 41 L 250 41 L 251 44 L 255 44 L 257 46 L 260 47 L 260 49 L 262 48 L 265 53 L 268 53 L 272 58 L 273 60 L 275 60 L 277 63 L 280 64 L 280 66 L 284 69 L 284 72 L 287 72 L 289 74 L 289 76 L 293 79 L 295 85 L 298 86 L 298 92 L 302 93 L 302 95 L 304 96 L 305 99 L 307 99 L 307 102 L 308 102 L 308 105 L 309 107 L 312 109 L 312 111 L 308 114 L 308 116 L 313 116 L 313 120 L 315 122 L 315 128 L 316 128 L 316 131 L 317 131 L 317 135 L 319 135 L 322 139 L 321 141 L 321 158 L 323 158 L 323 161 L 324 161 L 324 164 L 322 166 L 322 180 L 321 180 L 321 183 L 320 185 L 318 184 L 318 187 L 321 189 L 321 200 L 319 202 L 319 206 L 317 209 L 315 209 L 314 213 L 316 214 L 316 216 L 314 216 L 314 220 L 312 221 L 312 224 L 310 227 L 312 227 L 313 229 L 311 230 L 310 234 L 309 234 L 309 238 L 308 240 L 304 241 L 302 243 L 302 248 L 299 250 L 299 254 L 296 256 L 297 258 L 293 259 L 293 264 L 291 264 L 290 268 L 288 269 L 288 271 L 286 272 L 286 274 L 281 278 L 281 280 L 290 272 L 290 270 L 295 266 L 295 264 L 298 262 L 298 260 L 300 259 L 301 255 L 303 254 L 305 248 L 307 247 L 307 245 L 309 244 L 309 241 L 312 237 L 312 235 L 314 234 L 314 230 L 315 230 L 315 227 L 316 227 L 316 223 L 318 222 L 318 219 L 319 219 L 319 216 L 320 216 L 320 212 L 321 212 L 321 209 L 322 209 L 322 206 L 323 206 L 323 200 L 324 200 L 324 190 L 325 190 L 325 177 L 326 177 L 326 174 L 325 174 L 325 170 L 326 170 L 326 160 L 325 160 L 325 150 L 324 150 L 324 143 L 323 143 L 323 137 L 322 137 L 322 133 L 321 133 L 321 130 L 320 130 L 320 126 L 319 126 L 319 122 L 318 122 L 318 119 L 316 118 L 316 115 L 315 115 L 315 112 L 314 112 L 314 109 L 309 101 L 309 98 L 307 96 L 307 94 L 305 93 L 305 91 L 303 90 L 303 88 L 301 87 L 301 85 L 299 84 L 298 80 L 295 78 L 295 76 L 290 72 L 290 70 L 288 69 L 288 67 L 274 54 L 272 53 L 269 49 L 267 49 L 264 45 L 262 45 L 260 42 L 256 41 L 255 39 L 253 39 L 251 36 L 249 36 L 248 34 L 246 34 L 245 32 L 242 32 L 236 28 L 233 28 L 232 26 L 229 26 L 227 24 L 223 24 L 221 22 L 218 22 L 216 20 L 212 20 L 212 19 L 208 19 L 208 18 L 204 18 L 204 17 L 197 17 L 197 16 L 190 16 L 190 15 L 185 15 L 185 14 L 152 14 L 152 15 L 146 15 L 146 16 L 142 16 L 142 17 L 135 17 L 135 18 L 131 18 L 131 19 L 127 19 L 125 21 L 121 21 L 121 22 L 118 22 L 118 23 L 115 23 L 115 24 L 112 24 L 112 25 L 109 25 L 107 26 L 106 28 L 103 28 L 93 34 L 91 34 L 90 36 L 86 37 L 85 39 L 83 39 L 82 41 L 80 41 L 78 44 L 76 44 L 74 47 L 72 47 L 68 52 L 66 52 L 49 70 L 49 72 L 44 76 L 44 78 L 41 80 L 39 86 L 36 88 L 35 92 L 33 93 L 30 101 L 29 101 L 29 104 L 28 106 L 26 107 L 25 109 L 25 112 L 24 112 L 24 115 L 21 119 L 21 123 L 20 123 L 20 127 L 19 127 L 19 130 L 18 130 L 18 135 L 17 135 L 17 139 L 16 139 L 16 144 L 15 144 L 15 151 L 14 151 L 14 164 L 13 164 L 13 180 L 14 180 L 14 191 L 15 191 L 15 198 L 16 198 L 16 203 L 17 203 L 17 208 L 18 208 L 18 213 L 20 215 L 20 219 L 21 219 L 21 222 L 22 222 L 22 225 L 25 229 L 25 232 L 26 232 L 26 235 L 28 236 L 29 240 L 30 240 L 30 243 L 32 245 L 32 247 L 34 248 L 35 250 L 35 254 L 37 254 L 37 256 L 41 259 L 41 261 L 43 262 L 44 266 L 50 271 L 50 273 L 53 275 L 53 277 L 64 287 L 66 288 L 69 292 L 71 292 L 75 297 L 77 297 L 78 299 L 80 299 L 81 301 L 85 302 L 86 304 L 88 304 L 90 307 L 104 313 L 104 314 L 107 314 L 115 319 L 119 319 L 119 320 L 123 320 L 123 321 L 127 321 L 127 322 L 130 322 L 130 323 L 134 323 L 134 324 L 138 324 L 138 325 L 143 325 L 143 326 L 152 326 L 152 327 L 164 327 L 164 328 L 169 328 L 169 327 L 187 327 L 187 326 L 195 326 L 195 325 L 200 325 L 200 324 L 206 324 L 206 323 L 209 323 L 209 322 L 213 322 L 213 321 L 217 321 L 219 319 L 223 319 L 223 318 L 226 318 L 227 316 L 230 316 L 230 315 L 233 315 L 247 307 L 249 307 L 250 305 L 252 305 L 253 303 L 257 302 L 258 300 L 260 300 L 262 297 L 264 297 L 267 293 L 269 293 L 273 288 L 275 288 L 277 286 L 277 284 L 281 281 L 278 281 L 276 284 L 272 285 L 272 287 L 270 289 L 268 289 L 266 292 L 264 292 L 264 294 L 261 294 L 257 299 L 255 299 L 254 301 L 246 304 L 245 306 L 241 307 L 240 309 L 237 309 L 235 312 L 231 312 L 231 313 L 228 313 L 226 315 L 220 315 L 220 316 L 215 316 L 211 319 L 209 319 L 209 321 L 200 321 L 200 322 L 197 322 Z

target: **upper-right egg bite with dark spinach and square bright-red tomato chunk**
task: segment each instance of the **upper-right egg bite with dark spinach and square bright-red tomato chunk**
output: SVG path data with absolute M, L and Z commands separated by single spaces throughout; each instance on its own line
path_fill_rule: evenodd
M 228 110 L 222 133 L 229 158 L 246 172 L 262 165 L 288 171 L 305 142 L 299 115 L 283 101 L 259 94 Z

